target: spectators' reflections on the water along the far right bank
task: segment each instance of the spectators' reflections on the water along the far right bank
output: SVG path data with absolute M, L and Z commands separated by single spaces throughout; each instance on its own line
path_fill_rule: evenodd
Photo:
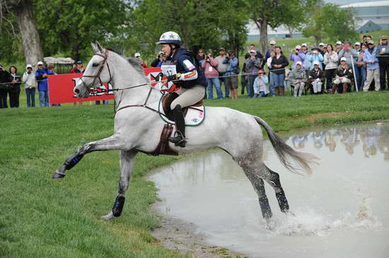
M 289 137 L 295 149 L 303 149 L 311 138 L 316 149 L 327 147 L 335 152 L 337 147 L 343 147 L 350 155 L 356 148 L 361 148 L 364 157 L 383 154 L 383 159 L 389 161 L 389 125 L 376 123 L 374 125 L 350 125 L 332 130 L 317 130 L 306 134 Z

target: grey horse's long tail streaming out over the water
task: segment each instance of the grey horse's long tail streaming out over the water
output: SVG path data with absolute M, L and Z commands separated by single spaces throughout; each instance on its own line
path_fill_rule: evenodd
M 304 170 L 308 175 L 312 173 L 312 169 L 310 168 L 311 164 L 318 164 L 318 157 L 313 154 L 308 154 L 305 152 L 296 152 L 292 147 L 286 145 L 284 140 L 281 139 L 274 130 L 261 118 L 254 116 L 257 123 L 262 125 L 265 128 L 267 135 L 269 135 L 269 140 L 272 142 L 272 145 L 279 157 L 281 163 L 289 169 L 289 171 L 298 173 L 298 171 Z M 291 159 L 295 161 L 295 163 L 299 166 L 299 168 L 291 163 Z

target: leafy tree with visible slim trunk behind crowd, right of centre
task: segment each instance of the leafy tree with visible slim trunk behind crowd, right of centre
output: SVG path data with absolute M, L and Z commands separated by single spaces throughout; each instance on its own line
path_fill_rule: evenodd
M 267 49 L 267 26 L 276 28 L 294 19 L 294 8 L 301 0 L 248 0 L 250 20 L 260 30 L 261 51 Z

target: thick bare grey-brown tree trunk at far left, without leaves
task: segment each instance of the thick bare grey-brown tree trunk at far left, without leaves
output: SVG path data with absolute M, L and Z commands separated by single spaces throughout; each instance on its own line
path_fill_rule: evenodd
M 40 38 L 31 1 L 22 0 L 16 6 L 15 11 L 18 27 L 21 31 L 25 62 L 35 65 L 37 61 L 43 61 L 43 51 L 40 46 Z

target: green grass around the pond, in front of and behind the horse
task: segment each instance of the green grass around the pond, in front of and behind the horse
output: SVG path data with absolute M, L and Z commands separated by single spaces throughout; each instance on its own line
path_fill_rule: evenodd
M 207 102 L 260 116 L 277 131 L 389 119 L 389 92 L 240 97 Z M 177 157 L 137 156 L 120 219 L 100 221 L 116 196 L 117 152 L 88 154 L 69 176 L 52 172 L 86 142 L 112 133 L 112 106 L 0 110 L 0 257 L 180 257 L 151 237 L 156 189 L 150 168 Z M 237 132 L 239 133 L 239 132 Z

